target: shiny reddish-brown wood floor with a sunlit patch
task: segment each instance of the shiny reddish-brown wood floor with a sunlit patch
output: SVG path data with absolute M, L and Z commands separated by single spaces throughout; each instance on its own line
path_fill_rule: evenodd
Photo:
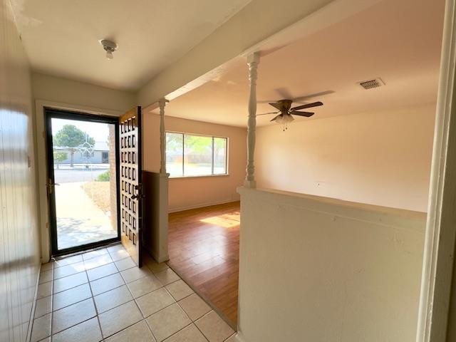
M 237 325 L 239 202 L 170 214 L 168 264 Z

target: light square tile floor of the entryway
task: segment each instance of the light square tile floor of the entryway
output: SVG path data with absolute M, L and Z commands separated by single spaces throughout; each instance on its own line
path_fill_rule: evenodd
M 234 331 L 167 264 L 121 245 L 43 264 L 31 342 L 224 342 Z

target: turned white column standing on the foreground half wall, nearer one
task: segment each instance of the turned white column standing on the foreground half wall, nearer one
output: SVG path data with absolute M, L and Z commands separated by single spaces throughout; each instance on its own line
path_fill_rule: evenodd
M 255 52 L 247 57 L 247 66 L 249 66 L 249 119 L 247 121 L 247 175 L 244 180 L 244 187 L 257 187 L 255 182 L 255 130 L 257 129 L 257 69 L 259 64 L 259 53 Z

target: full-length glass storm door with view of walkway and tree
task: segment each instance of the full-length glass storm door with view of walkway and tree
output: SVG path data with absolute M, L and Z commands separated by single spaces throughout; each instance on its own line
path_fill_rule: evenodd
M 117 125 L 73 115 L 48 117 L 54 254 L 119 239 Z

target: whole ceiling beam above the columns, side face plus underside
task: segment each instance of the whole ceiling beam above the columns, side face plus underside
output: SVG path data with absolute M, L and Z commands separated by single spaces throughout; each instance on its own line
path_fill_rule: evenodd
M 380 0 L 253 0 L 138 92 L 147 107 L 221 76 L 239 56 L 261 56 L 363 11 Z M 156 106 L 152 106 L 152 108 Z

